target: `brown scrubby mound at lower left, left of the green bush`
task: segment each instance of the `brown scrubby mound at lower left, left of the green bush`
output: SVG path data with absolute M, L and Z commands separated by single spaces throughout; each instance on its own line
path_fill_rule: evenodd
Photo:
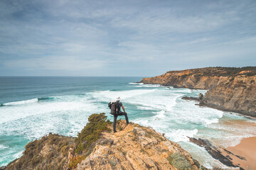
M 60 156 L 60 151 L 64 151 L 72 145 L 72 137 L 50 133 L 43 136 L 41 140 L 29 142 L 25 147 L 26 150 L 23 152 L 23 156 L 18 161 L 11 162 L 6 170 L 63 169 L 66 158 Z

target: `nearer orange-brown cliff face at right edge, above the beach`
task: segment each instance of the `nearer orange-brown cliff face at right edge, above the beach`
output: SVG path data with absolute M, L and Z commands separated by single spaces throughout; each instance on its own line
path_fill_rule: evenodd
M 232 81 L 207 91 L 203 100 L 207 106 L 256 117 L 256 76 L 234 77 Z

